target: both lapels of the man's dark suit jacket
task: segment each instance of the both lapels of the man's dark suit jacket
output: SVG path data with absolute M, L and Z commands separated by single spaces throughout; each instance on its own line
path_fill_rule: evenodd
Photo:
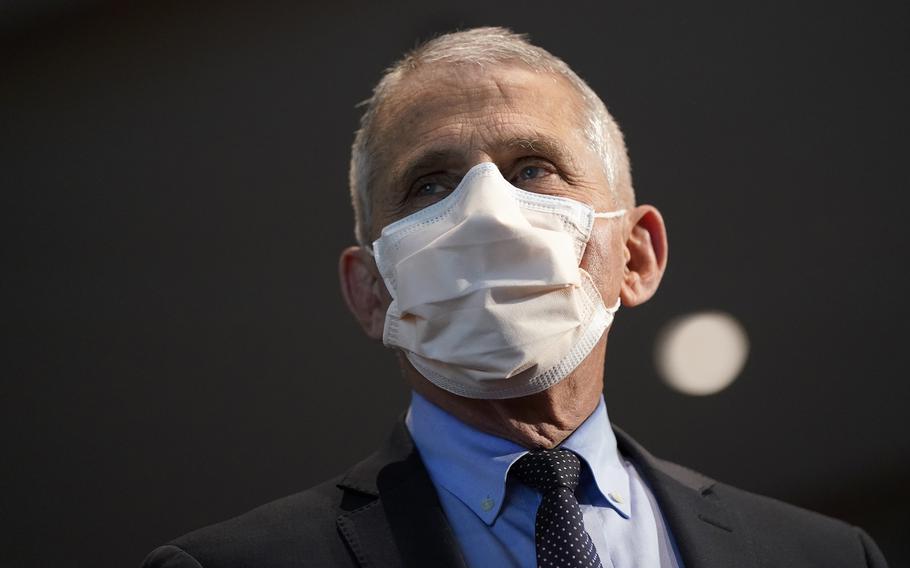
M 613 427 L 620 453 L 657 498 L 685 568 L 754 568 L 748 533 L 715 491 L 717 482 L 652 456 Z M 338 486 L 339 531 L 361 566 L 465 567 L 436 491 L 401 419 L 385 445 Z M 348 503 L 347 507 L 345 503 Z

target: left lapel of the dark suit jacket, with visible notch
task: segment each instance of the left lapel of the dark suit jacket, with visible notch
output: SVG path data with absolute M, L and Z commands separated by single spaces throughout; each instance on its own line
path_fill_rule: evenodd
M 455 535 L 403 421 L 339 483 L 354 492 L 338 529 L 361 566 L 464 568 Z

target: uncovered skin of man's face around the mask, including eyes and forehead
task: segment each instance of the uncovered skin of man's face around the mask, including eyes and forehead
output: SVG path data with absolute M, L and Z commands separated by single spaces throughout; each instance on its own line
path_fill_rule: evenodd
M 398 86 L 381 119 L 371 238 L 439 201 L 480 162 L 512 185 L 616 208 L 603 162 L 586 139 L 581 97 L 561 77 L 521 66 L 431 65 Z M 607 305 L 624 265 L 623 221 L 598 220 L 582 260 Z

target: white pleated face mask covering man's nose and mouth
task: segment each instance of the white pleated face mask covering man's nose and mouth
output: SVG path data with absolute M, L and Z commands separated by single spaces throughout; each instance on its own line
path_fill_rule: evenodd
M 543 391 L 591 352 L 619 309 L 579 267 L 596 217 L 584 203 L 518 189 L 492 163 L 373 243 L 392 296 L 383 343 L 456 395 Z

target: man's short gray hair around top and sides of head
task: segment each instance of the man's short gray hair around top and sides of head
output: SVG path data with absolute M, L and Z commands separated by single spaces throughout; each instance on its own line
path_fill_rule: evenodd
M 354 206 L 354 234 L 361 246 L 369 245 L 372 231 L 372 181 L 375 179 L 376 117 L 394 88 L 411 71 L 437 63 L 493 66 L 520 63 L 562 76 L 581 96 L 585 106 L 585 137 L 600 156 L 614 199 L 623 206 L 634 203 L 629 158 L 619 125 L 600 97 L 566 63 L 547 50 L 532 45 L 523 34 L 499 27 L 474 28 L 448 33 L 407 53 L 386 69 L 373 95 L 358 106 L 366 110 L 351 147 L 350 189 Z

